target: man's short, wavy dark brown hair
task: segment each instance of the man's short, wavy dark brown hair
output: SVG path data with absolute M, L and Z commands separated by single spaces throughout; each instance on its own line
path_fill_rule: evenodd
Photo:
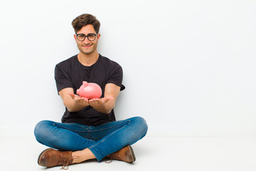
M 77 18 L 72 21 L 72 26 L 75 33 L 81 30 L 83 26 L 86 26 L 88 24 L 92 24 L 96 33 L 99 33 L 100 23 L 96 19 L 96 17 L 91 14 L 82 14 L 80 16 L 77 16 Z

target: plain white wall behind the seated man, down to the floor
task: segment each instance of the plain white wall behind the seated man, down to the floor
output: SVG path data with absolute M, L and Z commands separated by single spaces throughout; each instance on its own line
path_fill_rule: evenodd
M 101 21 L 99 52 L 122 65 L 116 115 L 149 135 L 256 134 L 256 1 L 1 1 L 0 136 L 64 112 L 56 63 L 78 53 L 72 19 Z

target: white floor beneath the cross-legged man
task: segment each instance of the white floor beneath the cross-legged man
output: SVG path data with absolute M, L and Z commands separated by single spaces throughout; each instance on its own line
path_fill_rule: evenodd
M 69 171 L 168 170 L 168 171 L 255 171 L 256 137 L 146 137 L 132 145 L 137 157 L 129 164 L 83 162 Z M 59 170 L 37 165 L 46 147 L 34 138 L 0 138 L 0 170 Z

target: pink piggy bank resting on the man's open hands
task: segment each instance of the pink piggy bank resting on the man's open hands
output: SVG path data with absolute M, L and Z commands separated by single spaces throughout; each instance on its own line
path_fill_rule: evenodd
M 97 83 L 83 81 L 82 86 L 77 89 L 77 94 L 87 99 L 100 98 L 102 96 L 102 88 Z

